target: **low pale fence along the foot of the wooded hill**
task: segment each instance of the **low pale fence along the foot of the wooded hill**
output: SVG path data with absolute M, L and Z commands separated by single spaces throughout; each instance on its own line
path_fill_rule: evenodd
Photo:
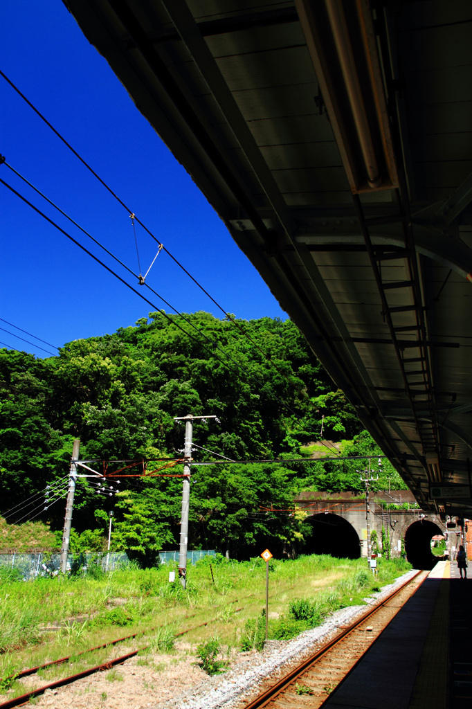
M 196 564 L 198 559 L 215 556 L 214 549 L 199 549 L 198 551 L 187 552 L 187 561 Z M 174 552 L 159 552 L 159 564 L 167 562 L 178 562 L 179 550 Z M 102 569 L 114 571 L 120 566 L 129 563 L 128 554 L 125 552 L 110 552 L 109 554 L 97 554 L 87 552 L 80 554 L 69 554 L 67 557 L 67 570 L 70 571 L 86 569 L 90 564 L 101 566 Z M 18 569 L 23 579 L 34 579 L 36 576 L 50 576 L 58 574 L 61 566 L 60 553 L 37 553 L 37 554 L 0 554 L 0 565 L 10 566 Z

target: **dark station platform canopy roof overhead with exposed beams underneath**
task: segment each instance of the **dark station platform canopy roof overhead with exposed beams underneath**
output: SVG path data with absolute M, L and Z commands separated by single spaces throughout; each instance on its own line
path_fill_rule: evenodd
M 422 509 L 472 517 L 470 0 L 64 2 Z

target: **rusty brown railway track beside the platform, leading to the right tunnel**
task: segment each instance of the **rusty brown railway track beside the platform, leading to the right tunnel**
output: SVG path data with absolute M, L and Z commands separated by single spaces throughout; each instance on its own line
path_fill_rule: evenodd
M 282 679 L 275 683 L 268 679 L 262 684 L 262 691 L 249 702 L 241 703 L 239 709 L 322 707 L 427 576 L 428 571 L 418 571 Z

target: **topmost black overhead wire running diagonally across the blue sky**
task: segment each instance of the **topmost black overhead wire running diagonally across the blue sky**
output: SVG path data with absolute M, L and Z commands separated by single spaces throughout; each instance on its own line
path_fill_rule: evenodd
M 134 228 L 134 220 L 136 220 L 137 223 L 140 224 L 140 225 L 142 226 L 142 228 L 150 235 L 150 237 L 151 237 L 152 239 L 154 239 L 154 241 L 157 242 L 157 244 L 159 244 L 159 251 L 160 251 L 161 249 L 163 249 L 164 252 L 166 252 L 167 255 L 174 261 L 174 263 L 175 263 L 180 269 L 182 269 L 182 270 L 184 271 L 184 273 L 193 281 L 193 283 L 195 283 L 196 286 L 198 286 L 198 288 L 201 289 L 201 291 L 202 291 L 208 298 L 210 298 L 210 301 L 212 301 L 212 302 L 215 304 L 215 306 L 217 306 L 217 308 L 219 308 L 219 310 L 220 310 L 222 313 L 224 313 L 225 317 L 227 317 L 227 319 L 230 320 L 230 322 L 231 322 L 233 325 L 236 325 L 237 328 L 240 329 L 240 331 L 242 331 L 242 332 L 244 333 L 244 330 L 242 329 L 241 325 L 240 325 L 239 323 L 237 323 L 236 319 L 233 318 L 233 317 L 230 315 L 230 313 L 228 313 L 228 312 L 225 310 L 225 308 L 223 308 L 222 306 L 220 306 L 220 304 L 218 303 L 218 301 L 216 301 L 215 298 L 213 298 L 213 296 L 210 296 L 210 294 L 208 293 L 208 291 L 206 291 L 206 289 L 203 288 L 203 286 L 202 286 L 202 285 L 190 274 L 190 272 L 172 255 L 172 253 L 169 252 L 169 250 L 167 250 L 166 247 L 164 247 L 164 245 L 162 244 L 162 242 L 161 242 L 159 239 L 157 239 L 157 237 L 147 228 L 147 226 L 146 226 L 144 223 L 142 223 L 142 221 L 141 221 L 139 218 L 137 218 L 137 217 L 135 216 L 135 213 L 133 212 L 133 210 L 130 209 L 130 208 L 125 204 L 125 202 L 124 202 L 122 199 L 120 199 L 120 197 L 118 197 L 118 195 L 116 194 L 116 192 L 113 191 L 113 189 L 111 189 L 111 187 L 108 186 L 108 184 L 106 184 L 106 182 L 105 182 L 101 177 L 99 177 L 99 174 L 97 174 L 97 173 L 94 171 L 94 169 L 92 169 L 92 167 L 86 162 L 86 160 L 84 160 L 84 158 L 83 158 L 81 155 L 79 155 L 79 152 L 77 152 L 77 150 L 74 150 L 74 148 L 72 147 L 72 145 L 70 145 L 70 143 L 68 143 L 67 140 L 65 140 L 65 138 L 59 133 L 59 131 L 56 130 L 56 129 L 53 127 L 53 125 L 50 123 L 50 121 L 47 121 L 47 118 L 45 118 L 45 116 L 43 116 L 43 114 L 40 113 L 40 111 L 38 111 L 38 108 L 36 108 L 36 107 L 32 104 L 32 102 L 29 101 L 29 100 L 26 98 L 26 96 L 20 91 L 20 89 L 18 89 L 18 87 L 11 81 L 11 79 L 9 79 L 9 77 L 7 77 L 6 74 L 4 74 L 4 72 L 2 72 L 1 70 L 0 70 L 0 75 L 1 75 L 2 77 L 4 77 L 4 79 L 5 79 L 6 82 L 12 87 L 12 89 L 13 89 L 14 91 L 16 91 L 16 93 L 17 93 L 19 96 L 21 96 L 21 98 L 22 98 L 24 101 L 26 101 L 26 104 L 28 104 L 28 106 L 30 106 L 30 108 L 32 108 L 33 111 L 35 111 L 35 113 L 37 114 L 37 116 L 39 116 L 39 118 L 41 118 L 41 120 L 46 123 L 46 125 L 53 131 L 53 133 L 55 133 L 55 135 L 57 135 L 57 138 L 60 138 L 60 140 L 62 140 L 62 143 L 64 143 L 64 145 L 66 145 L 66 146 L 69 148 L 69 150 L 72 151 L 72 153 L 78 158 L 78 160 L 80 160 L 80 162 L 82 162 L 82 164 L 84 164 L 84 167 L 86 167 L 86 169 L 88 169 L 88 170 L 91 172 L 91 174 L 93 174 L 94 177 L 96 177 L 96 179 L 99 180 L 99 182 L 100 182 L 100 183 L 105 187 L 105 189 L 108 190 L 108 192 L 118 201 L 118 203 L 120 203 L 120 205 L 121 205 L 126 211 L 128 211 L 128 214 L 129 214 L 130 216 L 133 216 L 133 228 Z M 136 248 L 137 248 L 137 242 L 136 242 Z M 159 253 L 159 251 L 158 251 L 157 253 Z M 157 255 L 156 255 L 156 257 L 157 257 Z M 154 257 L 154 261 L 155 261 L 155 258 L 156 258 L 156 257 Z M 154 263 L 154 261 L 153 261 L 152 263 Z M 139 264 L 139 254 L 138 254 L 138 264 Z M 152 264 L 151 264 L 151 266 L 152 266 Z M 150 270 L 150 269 L 148 269 L 147 273 L 149 272 L 149 270 Z M 147 274 L 146 274 L 146 276 L 147 276 Z M 143 278 L 143 277 L 141 276 L 141 274 L 140 274 L 140 277 L 139 277 L 139 283 L 140 283 L 140 285 L 144 285 L 144 284 L 145 284 L 145 277 Z M 160 296 L 159 296 L 159 297 L 160 297 Z M 172 309 L 174 310 L 174 308 L 172 308 Z M 283 372 L 281 372 L 281 370 L 279 369 L 279 367 L 277 367 L 277 365 L 275 364 L 275 362 L 273 361 L 273 359 L 272 359 L 269 355 L 267 355 L 266 352 L 264 352 L 264 350 L 262 350 L 262 347 L 260 347 L 260 346 L 257 344 L 257 342 L 254 342 L 254 340 L 252 340 L 252 338 L 249 337 L 249 335 L 247 335 L 247 333 L 244 333 L 244 334 L 245 334 L 245 337 L 247 337 L 247 340 L 249 340 L 250 342 L 252 342 L 252 344 L 253 344 L 255 347 L 257 347 L 257 349 L 258 349 L 260 352 L 262 352 L 262 353 L 264 354 L 264 357 L 266 357 L 266 359 L 268 359 L 269 362 L 271 362 L 272 366 L 279 372 L 279 374 L 281 374 L 284 378 L 286 378 L 286 375 L 285 375 Z M 293 412 L 293 411 L 291 410 L 291 408 L 289 408 L 289 410 L 290 410 L 292 413 L 295 413 L 295 412 Z M 296 413 L 295 413 L 295 415 L 297 416 L 297 418 L 299 418 Z M 322 445 L 325 445 L 325 443 L 322 442 Z M 327 447 L 327 446 L 326 446 L 326 447 Z

